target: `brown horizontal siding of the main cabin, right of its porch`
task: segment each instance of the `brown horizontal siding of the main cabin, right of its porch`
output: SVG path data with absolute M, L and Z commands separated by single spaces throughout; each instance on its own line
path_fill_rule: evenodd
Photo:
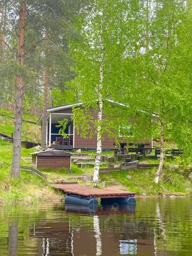
M 90 109 L 93 120 L 97 119 L 97 113 L 94 111 L 94 109 Z M 73 113 L 72 108 L 63 109 L 59 111 L 55 111 L 55 113 Z M 105 115 L 103 115 L 103 118 L 105 118 Z M 130 122 L 134 123 L 134 120 L 131 119 Z M 89 135 L 87 135 L 89 137 Z M 115 140 L 113 138 L 109 138 L 107 133 L 103 134 L 103 140 L 102 140 L 102 148 L 103 149 L 110 149 L 114 148 L 113 145 L 115 143 Z M 119 140 L 122 142 L 126 142 L 126 140 L 122 139 L 122 137 L 119 137 Z M 142 141 L 137 141 L 137 143 L 142 143 Z M 150 140 L 145 141 L 145 143 L 150 143 L 150 145 L 145 146 L 144 148 L 151 148 L 152 143 Z M 80 134 L 77 134 L 77 129 L 75 128 L 75 148 L 97 148 L 97 135 L 94 135 L 91 139 L 87 138 L 81 138 Z

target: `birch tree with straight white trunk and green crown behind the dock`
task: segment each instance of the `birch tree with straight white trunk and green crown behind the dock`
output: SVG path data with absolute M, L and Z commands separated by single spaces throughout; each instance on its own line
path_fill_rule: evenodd
M 103 118 L 103 111 L 109 112 L 106 108 L 111 108 L 111 105 L 105 104 L 107 98 L 119 100 L 121 97 L 121 84 L 125 82 L 121 64 L 135 45 L 137 26 L 133 23 L 132 15 L 138 8 L 138 2 L 93 1 L 77 28 L 81 32 L 80 43 L 71 43 L 84 108 L 74 107 L 74 121 L 81 136 L 97 135 L 93 177 L 95 187 L 98 186 L 102 135 L 112 128 L 106 117 Z M 90 108 L 97 113 L 94 121 Z

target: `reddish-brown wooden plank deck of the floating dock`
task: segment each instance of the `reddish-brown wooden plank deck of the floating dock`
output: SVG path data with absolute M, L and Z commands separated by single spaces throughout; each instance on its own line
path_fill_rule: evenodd
M 61 189 L 67 194 L 75 194 L 79 196 L 95 196 L 96 198 L 114 198 L 114 197 L 127 197 L 135 195 L 135 192 L 116 190 L 110 188 L 92 188 L 79 184 L 53 184 L 56 189 Z

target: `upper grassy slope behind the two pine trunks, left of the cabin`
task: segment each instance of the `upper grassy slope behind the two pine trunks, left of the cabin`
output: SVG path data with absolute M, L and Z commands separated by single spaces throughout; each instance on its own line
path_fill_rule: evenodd
M 10 118 L 8 116 L 4 116 L 1 114 L 5 114 L 8 116 L 14 116 L 14 113 L 12 111 L 6 111 L 0 109 L 0 116 L 2 120 L 0 120 L 0 127 L 13 132 L 14 131 L 14 119 Z M 23 115 L 24 120 L 29 120 L 32 122 L 36 122 L 38 120 L 38 117 L 32 116 L 32 115 Z M 0 132 L 4 133 L 2 130 Z M 5 132 L 7 135 L 10 135 L 10 133 Z M 40 142 L 41 141 L 41 127 L 37 126 L 33 123 L 23 122 L 22 124 L 22 135 L 27 137 L 28 141 L 32 142 Z M 25 140 L 25 138 L 22 138 L 22 140 Z

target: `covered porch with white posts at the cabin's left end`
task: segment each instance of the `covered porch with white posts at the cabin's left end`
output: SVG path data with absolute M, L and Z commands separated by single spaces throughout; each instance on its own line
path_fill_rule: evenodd
M 74 125 L 71 120 L 72 115 L 71 113 L 50 113 L 47 119 L 46 130 L 47 147 L 68 150 L 74 148 Z M 60 127 L 56 127 L 59 125 L 58 121 L 63 119 L 68 119 L 68 124 L 65 129 L 68 138 L 63 138 L 63 136 L 59 134 Z

